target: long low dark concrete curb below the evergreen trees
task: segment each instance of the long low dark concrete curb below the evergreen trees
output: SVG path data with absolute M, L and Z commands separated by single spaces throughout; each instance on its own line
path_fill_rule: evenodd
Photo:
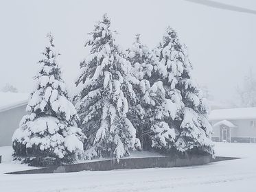
M 6 174 L 34 174 L 34 173 L 69 173 L 78 171 L 110 171 L 114 169 L 146 169 L 156 167 L 186 167 L 192 165 L 205 165 L 220 160 L 232 160 L 237 158 L 210 156 L 187 156 L 187 158 L 176 158 L 172 156 L 144 157 L 144 158 L 121 158 L 99 160 L 72 165 L 45 167 L 41 169 L 30 169 L 15 171 Z

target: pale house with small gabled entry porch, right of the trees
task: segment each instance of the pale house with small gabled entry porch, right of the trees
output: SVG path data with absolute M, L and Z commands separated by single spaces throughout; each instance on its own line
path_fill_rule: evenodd
M 212 110 L 213 141 L 256 143 L 256 108 Z

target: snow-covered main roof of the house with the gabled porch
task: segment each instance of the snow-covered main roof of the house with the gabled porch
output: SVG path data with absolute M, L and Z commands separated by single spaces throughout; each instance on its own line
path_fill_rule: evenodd
M 229 108 L 212 110 L 209 121 L 235 119 L 256 119 L 256 108 Z

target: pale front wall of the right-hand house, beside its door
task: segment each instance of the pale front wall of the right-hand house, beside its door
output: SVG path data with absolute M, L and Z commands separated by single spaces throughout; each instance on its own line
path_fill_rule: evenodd
M 251 128 L 251 121 L 253 120 L 256 121 L 256 119 L 229 120 L 237 126 L 237 128 L 230 129 L 231 142 L 256 143 L 256 128 Z M 211 121 L 211 125 L 214 125 L 215 123 L 218 123 L 218 121 Z M 222 141 L 221 127 L 221 125 L 213 127 L 213 141 Z

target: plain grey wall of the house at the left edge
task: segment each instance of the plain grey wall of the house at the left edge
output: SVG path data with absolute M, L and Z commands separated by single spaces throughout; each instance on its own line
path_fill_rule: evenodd
M 26 105 L 0 112 L 0 146 L 12 145 L 12 134 L 19 128 L 21 118 L 26 114 Z

